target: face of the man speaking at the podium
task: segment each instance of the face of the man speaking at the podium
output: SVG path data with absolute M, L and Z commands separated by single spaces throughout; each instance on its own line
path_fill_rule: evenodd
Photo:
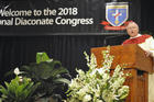
M 139 26 L 135 23 L 130 23 L 127 26 L 127 32 L 131 37 L 134 37 L 139 34 Z

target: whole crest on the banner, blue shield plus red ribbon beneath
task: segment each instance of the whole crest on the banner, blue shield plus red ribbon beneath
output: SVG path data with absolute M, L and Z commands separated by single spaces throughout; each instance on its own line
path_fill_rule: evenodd
M 101 22 L 105 30 L 125 30 L 129 19 L 128 2 L 110 2 L 106 4 L 106 21 Z M 124 24 L 124 25 L 123 25 Z

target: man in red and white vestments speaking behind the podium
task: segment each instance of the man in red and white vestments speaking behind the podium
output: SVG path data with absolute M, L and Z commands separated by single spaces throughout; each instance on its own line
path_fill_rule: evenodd
M 130 36 L 122 45 L 138 44 L 146 56 L 154 58 L 154 38 L 151 35 L 139 34 L 139 25 L 135 22 L 130 22 L 127 26 L 127 32 Z M 148 102 L 154 102 L 154 73 L 148 75 Z

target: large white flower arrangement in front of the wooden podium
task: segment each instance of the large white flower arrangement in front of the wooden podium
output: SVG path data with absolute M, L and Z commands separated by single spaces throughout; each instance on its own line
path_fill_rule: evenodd
M 129 86 L 123 84 L 128 73 L 124 75 L 118 65 L 111 76 L 113 56 L 109 54 L 109 48 L 102 52 L 105 60 L 101 68 L 97 68 L 94 54 L 89 57 L 84 53 L 89 70 L 77 70 L 78 75 L 72 79 L 65 102 L 122 102 L 128 97 Z

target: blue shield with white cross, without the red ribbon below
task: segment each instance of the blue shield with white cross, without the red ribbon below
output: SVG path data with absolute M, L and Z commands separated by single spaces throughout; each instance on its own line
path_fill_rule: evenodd
M 112 26 L 122 25 L 129 16 L 128 2 L 110 2 L 106 5 L 106 19 Z

